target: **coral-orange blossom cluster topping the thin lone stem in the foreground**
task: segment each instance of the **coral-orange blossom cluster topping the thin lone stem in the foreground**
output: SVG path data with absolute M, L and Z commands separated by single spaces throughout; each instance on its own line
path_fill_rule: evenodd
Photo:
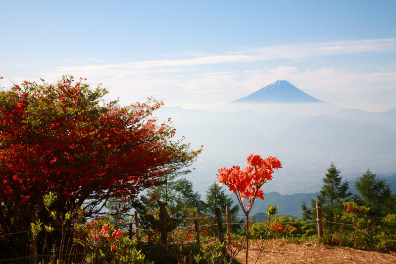
M 281 161 L 276 157 L 261 158 L 254 153 L 247 156 L 246 167 L 241 170 L 240 166 L 232 166 L 231 168 L 219 169 L 217 179 L 221 184 L 229 187 L 234 193 L 239 192 L 241 200 L 248 199 L 250 203 L 256 197 L 264 199 L 264 193 L 260 189 L 267 181 L 272 180 L 274 169 L 282 168 Z

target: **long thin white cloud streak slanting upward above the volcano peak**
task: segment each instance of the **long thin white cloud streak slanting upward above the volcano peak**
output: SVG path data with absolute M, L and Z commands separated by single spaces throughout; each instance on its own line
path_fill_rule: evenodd
M 193 65 L 210 65 L 219 63 L 244 63 L 276 58 L 307 58 L 311 56 L 329 56 L 347 53 L 380 53 L 396 51 L 396 39 L 361 40 L 326 42 L 313 44 L 295 44 L 283 46 L 261 47 L 247 51 L 238 51 L 230 54 L 201 55 L 194 58 L 136 61 L 120 64 L 86 65 L 74 67 L 57 67 L 57 71 L 89 71 L 99 69 L 140 69 L 157 67 L 178 67 Z M 241 54 L 243 53 L 243 54 Z

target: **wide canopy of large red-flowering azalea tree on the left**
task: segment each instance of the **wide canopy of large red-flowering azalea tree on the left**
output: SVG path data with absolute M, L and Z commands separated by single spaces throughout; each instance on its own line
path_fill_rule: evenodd
M 168 121 L 148 99 L 121 107 L 85 79 L 63 76 L 55 84 L 24 81 L 0 90 L 0 225 L 7 233 L 46 214 L 42 198 L 58 195 L 58 211 L 84 206 L 98 213 L 110 197 L 134 200 L 163 177 L 197 158 L 182 140 L 172 140 Z M 131 203 L 126 203 L 130 206 Z M 127 210 L 125 208 L 124 210 Z

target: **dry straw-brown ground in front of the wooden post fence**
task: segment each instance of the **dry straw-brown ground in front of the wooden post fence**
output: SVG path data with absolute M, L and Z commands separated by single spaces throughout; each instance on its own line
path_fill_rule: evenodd
M 257 244 L 250 242 L 248 263 L 254 264 L 258 253 Z M 264 243 L 265 249 L 260 253 L 257 264 L 396 264 L 396 252 L 372 251 L 344 247 L 332 247 L 304 242 L 294 244 L 283 241 Z M 237 260 L 245 264 L 245 249 L 238 255 Z

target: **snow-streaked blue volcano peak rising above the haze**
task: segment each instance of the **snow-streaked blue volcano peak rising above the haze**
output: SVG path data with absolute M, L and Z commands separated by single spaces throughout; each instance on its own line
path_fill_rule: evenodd
M 325 103 L 320 101 L 286 80 L 275 81 L 254 93 L 231 103 Z

